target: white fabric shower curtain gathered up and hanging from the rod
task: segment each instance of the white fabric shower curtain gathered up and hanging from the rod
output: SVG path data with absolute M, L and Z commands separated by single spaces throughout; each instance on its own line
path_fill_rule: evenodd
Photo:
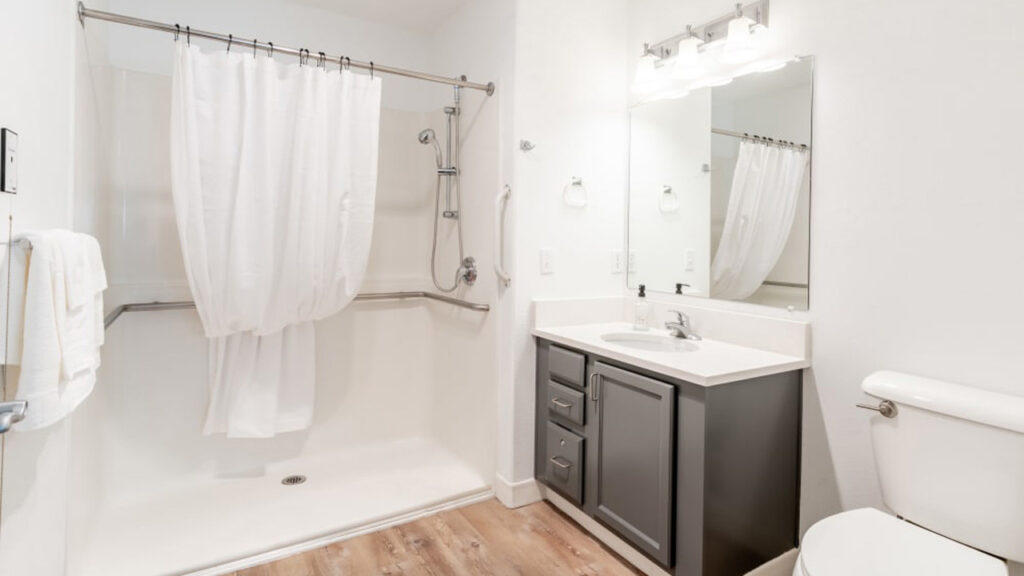
M 305 428 L 312 322 L 347 305 L 366 271 L 381 80 L 252 50 L 176 50 L 171 184 L 211 338 L 204 434 Z

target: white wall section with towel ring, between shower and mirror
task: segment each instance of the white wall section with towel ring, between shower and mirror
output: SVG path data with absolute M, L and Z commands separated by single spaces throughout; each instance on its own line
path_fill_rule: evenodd
M 541 297 L 621 294 L 611 253 L 626 240 L 629 120 L 628 3 L 625 0 L 519 0 L 516 9 L 513 148 L 514 324 L 507 333 L 515 381 L 504 400 L 512 411 L 499 474 L 515 483 L 534 475 L 535 344 L 531 301 Z M 562 203 L 580 176 L 586 208 Z M 541 248 L 553 274 L 541 275 Z M 504 366 L 509 366 L 505 364 Z

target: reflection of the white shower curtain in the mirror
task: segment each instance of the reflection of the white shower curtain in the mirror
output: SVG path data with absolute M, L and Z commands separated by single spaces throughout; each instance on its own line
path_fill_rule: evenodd
M 713 297 L 748 298 L 775 268 L 797 214 L 807 161 L 803 150 L 739 145 L 725 228 L 711 265 Z

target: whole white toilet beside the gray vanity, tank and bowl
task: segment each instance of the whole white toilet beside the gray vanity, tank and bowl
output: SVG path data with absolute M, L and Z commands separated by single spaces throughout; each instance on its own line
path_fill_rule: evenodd
M 794 576 L 1007 576 L 1024 562 L 1024 398 L 897 372 L 861 388 L 882 497 L 807 531 Z

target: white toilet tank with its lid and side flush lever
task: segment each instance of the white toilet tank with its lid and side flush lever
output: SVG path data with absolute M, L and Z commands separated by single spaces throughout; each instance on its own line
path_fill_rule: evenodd
M 882 496 L 898 516 L 1024 562 L 1024 397 L 897 372 L 864 379 Z

